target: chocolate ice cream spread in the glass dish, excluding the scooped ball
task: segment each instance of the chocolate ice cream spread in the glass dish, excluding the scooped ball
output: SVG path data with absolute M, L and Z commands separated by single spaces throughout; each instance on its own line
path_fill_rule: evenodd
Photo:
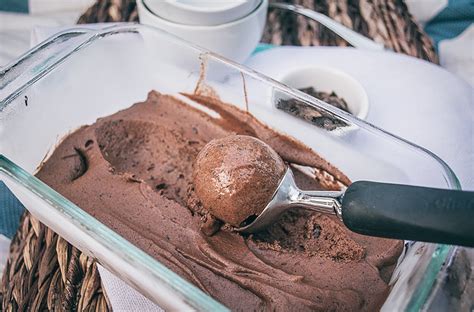
M 232 105 L 150 92 L 145 102 L 66 137 L 38 178 L 156 260 L 236 311 L 376 310 L 403 242 L 348 231 L 332 216 L 285 213 L 243 236 L 212 218 L 196 196 L 193 164 L 229 135 L 256 137 L 293 168 L 303 189 L 338 189 L 349 179 L 298 141 Z

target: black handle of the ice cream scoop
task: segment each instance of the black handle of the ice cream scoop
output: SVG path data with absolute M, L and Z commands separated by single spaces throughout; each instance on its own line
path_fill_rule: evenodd
M 474 192 L 358 181 L 342 219 L 360 234 L 474 247 Z

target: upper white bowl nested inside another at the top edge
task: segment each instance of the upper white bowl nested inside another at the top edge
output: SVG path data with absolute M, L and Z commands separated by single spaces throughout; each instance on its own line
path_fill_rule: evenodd
M 262 0 L 143 0 L 159 17 L 185 25 L 214 26 L 253 12 Z

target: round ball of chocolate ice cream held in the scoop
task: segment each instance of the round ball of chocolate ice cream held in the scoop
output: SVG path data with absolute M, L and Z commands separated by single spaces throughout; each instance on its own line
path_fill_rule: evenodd
M 199 152 L 194 189 L 214 217 L 238 227 L 263 211 L 285 171 L 281 157 L 266 143 L 231 135 L 210 141 Z

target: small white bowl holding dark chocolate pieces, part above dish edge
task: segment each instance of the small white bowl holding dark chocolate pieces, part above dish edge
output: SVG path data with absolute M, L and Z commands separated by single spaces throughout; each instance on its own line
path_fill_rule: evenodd
M 343 98 L 354 116 L 365 119 L 369 98 L 364 87 L 348 74 L 329 67 L 304 67 L 283 74 L 280 82 L 296 89 L 313 87 L 316 91 L 332 92 Z

